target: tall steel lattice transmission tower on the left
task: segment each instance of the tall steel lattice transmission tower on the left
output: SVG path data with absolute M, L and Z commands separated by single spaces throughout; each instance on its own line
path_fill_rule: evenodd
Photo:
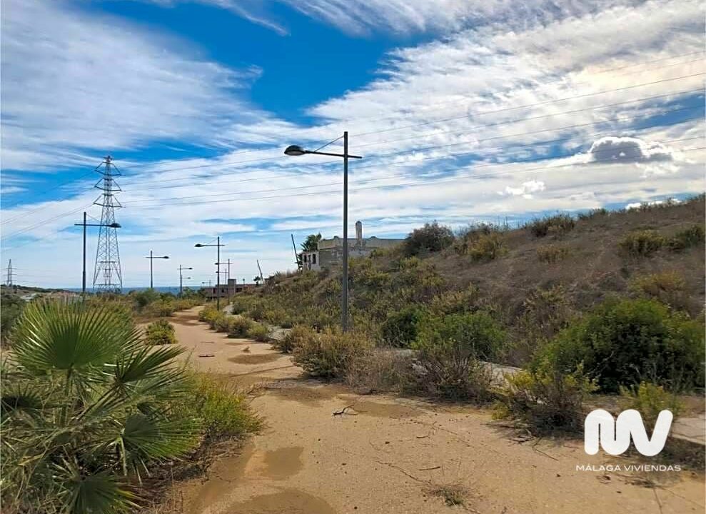
M 98 247 L 96 248 L 93 287 L 94 291 L 98 293 L 119 293 L 123 288 L 123 276 L 120 271 L 120 251 L 118 250 L 118 231 L 115 227 L 115 209 L 122 206 L 115 197 L 115 193 L 122 190 L 114 177 L 119 176 L 120 171 L 113 164 L 111 156 L 107 156 L 106 160 L 96 168 L 96 171 L 101 173 L 102 177 L 95 187 L 101 189 L 103 194 L 94 201 L 94 205 L 101 206 L 102 211 Z

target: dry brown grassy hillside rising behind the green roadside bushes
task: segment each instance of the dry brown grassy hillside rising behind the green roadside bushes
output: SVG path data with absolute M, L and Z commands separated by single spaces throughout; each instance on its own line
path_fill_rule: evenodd
M 540 340 L 611 296 L 655 297 L 700 316 L 704 216 L 698 196 L 558 215 L 512 230 L 469 227 L 453 238 L 444 227 L 427 226 L 397 248 L 351 260 L 351 324 L 385 344 L 391 342 L 385 321 L 409 308 L 442 314 L 483 308 L 510 334 L 502 360 L 522 365 Z M 238 296 L 235 311 L 282 326 L 336 326 L 340 277 L 340 271 L 276 275 L 261 290 Z

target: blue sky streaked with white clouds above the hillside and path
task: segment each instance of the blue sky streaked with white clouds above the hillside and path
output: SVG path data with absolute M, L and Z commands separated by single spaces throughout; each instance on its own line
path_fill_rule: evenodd
M 689 0 L 5 0 L 1 241 L 81 285 L 96 171 L 121 176 L 123 286 L 251 281 L 291 234 L 404 237 L 704 191 L 704 4 Z M 89 287 L 96 227 L 89 227 Z M 3 276 L 3 279 L 5 277 Z

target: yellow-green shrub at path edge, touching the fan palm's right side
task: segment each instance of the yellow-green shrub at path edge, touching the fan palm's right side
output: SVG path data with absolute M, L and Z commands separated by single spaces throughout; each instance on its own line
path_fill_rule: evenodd
M 182 417 L 198 420 L 206 438 L 238 437 L 261 427 L 243 393 L 206 373 L 193 373 L 188 394 L 173 400 L 172 405 Z

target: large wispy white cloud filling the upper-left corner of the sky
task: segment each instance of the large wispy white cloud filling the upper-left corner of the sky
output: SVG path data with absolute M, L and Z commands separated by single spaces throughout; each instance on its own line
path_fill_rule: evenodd
M 90 166 L 108 150 L 208 141 L 260 116 L 233 96 L 257 69 L 198 59 L 182 41 L 65 1 L 5 1 L 2 38 L 5 169 Z

